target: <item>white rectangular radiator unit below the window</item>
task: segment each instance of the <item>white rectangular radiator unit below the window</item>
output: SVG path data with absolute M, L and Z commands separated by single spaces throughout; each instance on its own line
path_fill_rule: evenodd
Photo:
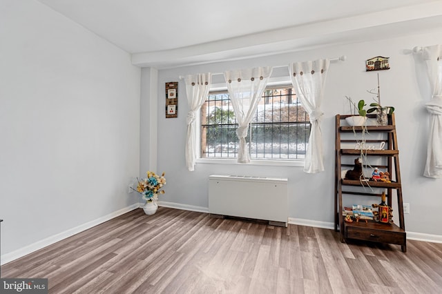
M 287 226 L 287 179 L 238 175 L 209 176 L 211 216 L 268 220 Z

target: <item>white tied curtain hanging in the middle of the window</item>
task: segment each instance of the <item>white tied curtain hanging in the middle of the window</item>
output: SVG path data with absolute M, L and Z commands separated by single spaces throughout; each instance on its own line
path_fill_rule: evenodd
M 224 72 L 233 112 L 235 112 L 236 121 L 239 124 L 236 135 L 240 139 L 238 162 L 241 164 L 250 162 L 250 154 L 247 150 L 245 138 L 262 92 L 264 92 L 269 81 L 271 71 L 271 67 L 264 67 Z

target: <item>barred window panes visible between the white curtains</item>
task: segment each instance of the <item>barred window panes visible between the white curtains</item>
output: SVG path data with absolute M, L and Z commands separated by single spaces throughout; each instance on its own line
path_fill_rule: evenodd
M 293 88 L 266 88 L 246 138 L 251 159 L 304 159 L 310 127 Z M 238 158 L 236 128 L 229 92 L 209 92 L 201 108 L 200 157 Z

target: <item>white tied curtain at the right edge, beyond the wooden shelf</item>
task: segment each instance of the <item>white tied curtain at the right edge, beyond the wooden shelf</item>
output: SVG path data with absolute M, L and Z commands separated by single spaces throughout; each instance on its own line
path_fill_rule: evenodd
M 425 177 L 442 177 L 442 46 L 423 48 L 427 61 L 432 99 L 425 104 L 430 113 L 430 134 L 428 136 Z

